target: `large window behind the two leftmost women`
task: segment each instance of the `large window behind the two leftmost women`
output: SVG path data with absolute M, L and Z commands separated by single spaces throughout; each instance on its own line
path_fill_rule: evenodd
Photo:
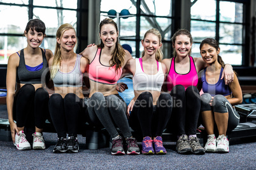
M 39 18 L 46 26 L 46 38 L 40 47 L 51 49 L 54 53 L 55 34 L 59 26 L 70 23 L 76 29 L 77 8 L 78 2 L 70 0 L 2 0 L 0 3 L 0 64 L 6 64 L 12 53 L 27 46 L 23 33 L 27 22 L 32 18 Z

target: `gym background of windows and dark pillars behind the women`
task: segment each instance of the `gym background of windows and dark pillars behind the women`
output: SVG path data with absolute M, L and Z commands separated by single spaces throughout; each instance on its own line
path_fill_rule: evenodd
M 53 53 L 58 27 L 71 23 L 79 53 L 99 42 L 99 22 L 110 15 L 118 23 L 120 44 L 129 44 L 134 58 L 141 56 L 140 41 L 152 27 L 162 34 L 164 58 L 172 56 L 171 37 L 178 29 L 190 30 L 194 57 L 201 57 L 204 38 L 217 39 L 220 55 L 238 73 L 243 92 L 256 91 L 255 0 L 0 0 L 0 88 L 6 88 L 8 56 L 27 45 L 23 33 L 30 19 L 45 22 L 41 48 Z

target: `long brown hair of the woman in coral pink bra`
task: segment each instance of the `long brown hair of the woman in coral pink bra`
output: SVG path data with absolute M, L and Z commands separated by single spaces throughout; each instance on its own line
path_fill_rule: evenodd
M 115 23 L 111 18 L 105 18 L 104 20 L 101 21 L 101 23 L 99 23 L 99 34 L 101 34 L 101 27 L 103 27 L 103 25 L 106 24 L 112 24 L 115 26 L 116 31 L 118 32 L 117 29 L 117 23 Z M 97 45 L 97 48 L 104 48 L 104 43 L 101 40 L 101 44 Z M 125 56 L 125 51 L 124 48 L 122 48 L 122 46 L 119 44 L 118 39 L 117 42 L 115 43 L 115 50 L 113 51 L 113 53 L 111 54 L 112 58 L 110 59 L 110 66 L 113 67 L 114 65 L 116 65 L 116 70 L 118 70 L 119 68 L 122 68 L 122 66 L 124 65 L 124 56 Z

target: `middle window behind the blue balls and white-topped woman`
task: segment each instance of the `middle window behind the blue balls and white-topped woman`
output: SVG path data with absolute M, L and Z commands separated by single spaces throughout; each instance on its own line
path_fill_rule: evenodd
M 173 0 L 101 0 L 101 20 L 108 17 L 108 11 L 115 10 L 122 13 L 122 10 L 129 10 L 129 18 L 113 18 L 120 24 L 120 44 L 129 44 L 132 48 L 132 56 L 139 58 L 143 47 L 141 39 L 148 29 L 158 29 L 162 35 L 162 51 L 165 58 L 171 56 L 171 34 Z M 140 7 L 139 9 L 137 7 Z

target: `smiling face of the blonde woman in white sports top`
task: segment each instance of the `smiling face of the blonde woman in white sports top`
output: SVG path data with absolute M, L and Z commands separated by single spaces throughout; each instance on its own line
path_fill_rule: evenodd
M 159 42 L 159 37 L 155 34 L 149 33 L 146 35 L 145 39 L 141 41 L 144 47 L 145 55 L 155 55 L 157 49 L 159 49 L 162 44 Z

